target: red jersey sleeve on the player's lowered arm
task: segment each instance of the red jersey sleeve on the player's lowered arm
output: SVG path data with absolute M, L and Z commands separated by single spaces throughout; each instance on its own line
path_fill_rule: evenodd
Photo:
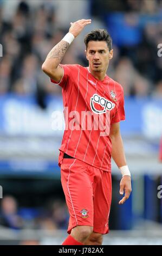
M 116 111 L 115 116 L 112 118 L 113 123 L 119 123 L 120 121 L 125 120 L 125 109 L 124 109 L 124 90 L 122 89 L 118 110 Z

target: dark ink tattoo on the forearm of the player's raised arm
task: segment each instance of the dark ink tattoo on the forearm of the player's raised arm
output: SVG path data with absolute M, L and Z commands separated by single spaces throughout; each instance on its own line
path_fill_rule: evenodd
M 55 45 L 54 48 L 48 53 L 47 59 L 57 58 L 58 65 L 60 64 L 64 53 L 66 53 L 69 47 L 69 43 L 66 41 L 60 41 L 59 44 Z

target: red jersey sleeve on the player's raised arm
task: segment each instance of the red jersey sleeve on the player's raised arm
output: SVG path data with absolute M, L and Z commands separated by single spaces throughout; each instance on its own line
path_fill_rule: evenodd
M 58 86 L 61 86 L 62 88 L 66 87 L 66 84 L 69 80 L 69 78 L 73 79 L 73 77 L 76 76 L 76 72 L 78 70 L 77 65 L 62 65 L 60 64 L 61 68 L 63 69 L 63 76 L 59 83 L 55 82 L 52 78 L 50 78 L 50 81 Z

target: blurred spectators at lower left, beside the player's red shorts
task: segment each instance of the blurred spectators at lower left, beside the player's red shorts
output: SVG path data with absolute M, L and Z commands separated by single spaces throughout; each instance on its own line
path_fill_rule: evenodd
M 47 200 L 41 208 L 20 207 L 13 196 L 4 196 L 1 200 L 0 227 L 15 231 L 25 228 L 55 231 L 66 229 L 68 220 L 67 206 L 61 199 Z

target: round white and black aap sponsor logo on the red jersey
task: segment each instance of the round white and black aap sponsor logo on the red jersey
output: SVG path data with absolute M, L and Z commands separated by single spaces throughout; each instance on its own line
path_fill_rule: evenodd
M 102 109 L 96 109 L 94 104 L 98 103 Z M 106 111 L 111 111 L 114 107 L 115 104 L 107 99 L 105 99 L 104 97 L 101 97 L 99 94 L 94 94 L 91 98 L 90 98 L 90 107 L 92 109 L 92 111 L 96 114 L 103 114 L 106 113 Z

